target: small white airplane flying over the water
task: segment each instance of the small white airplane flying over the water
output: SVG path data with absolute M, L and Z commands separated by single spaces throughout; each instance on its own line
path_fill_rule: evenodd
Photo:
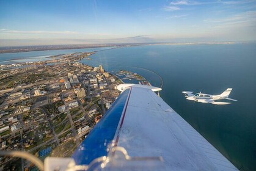
M 237 101 L 235 99 L 229 98 L 229 94 L 232 89 L 227 89 L 225 92 L 221 93 L 220 95 L 208 95 L 205 93 L 196 93 L 192 94 L 192 92 L 182 92 L 185 94 L 186 99 L 188 100 L 194 100 L 197 102 L 201 103 L 211 103 L 211 104 L 230 104 L 229 102 L 223 102 L 223 101 L 215 101 L 215 100 L 222 100 L 222 99 L 227 99 L 227 100 L 232 100 L 232 101 Z

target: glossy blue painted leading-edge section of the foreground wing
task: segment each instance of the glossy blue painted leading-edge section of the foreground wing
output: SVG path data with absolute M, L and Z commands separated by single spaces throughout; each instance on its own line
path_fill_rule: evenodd
M 95 158 L 108 155 L 108 144 L 114 139 L 129 91 L 130 89 L 127 89 L 119 95 L 100 122 L 76 149 L 72 156 L 76 164 L 89 164 Z

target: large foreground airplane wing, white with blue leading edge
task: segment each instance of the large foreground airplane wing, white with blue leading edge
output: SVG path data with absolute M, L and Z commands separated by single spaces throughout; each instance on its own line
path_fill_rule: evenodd
M 151 89 L 126 89 L 73 154 L 98 170 L 238 170 Z

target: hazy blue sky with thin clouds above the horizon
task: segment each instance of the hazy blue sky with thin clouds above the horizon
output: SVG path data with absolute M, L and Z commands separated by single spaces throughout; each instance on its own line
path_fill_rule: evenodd
M 0 1 L 0 46 L 256 40 L 256 0 Z

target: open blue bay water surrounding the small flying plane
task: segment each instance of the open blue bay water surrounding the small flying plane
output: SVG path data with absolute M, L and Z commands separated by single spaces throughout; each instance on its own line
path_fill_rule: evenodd
M 161 85 L 161 97 L 238 169 L 256 170 L 256 44 L 154 45 L 101 51 L 82 63 L 126 69 Z M 130 66 L 130 67 L 128 67 Z M 131 68 L 139 67 L 139 68 Z M 233 88 L 229 105 L 188 101 L 183 90 L 219 94 Z

